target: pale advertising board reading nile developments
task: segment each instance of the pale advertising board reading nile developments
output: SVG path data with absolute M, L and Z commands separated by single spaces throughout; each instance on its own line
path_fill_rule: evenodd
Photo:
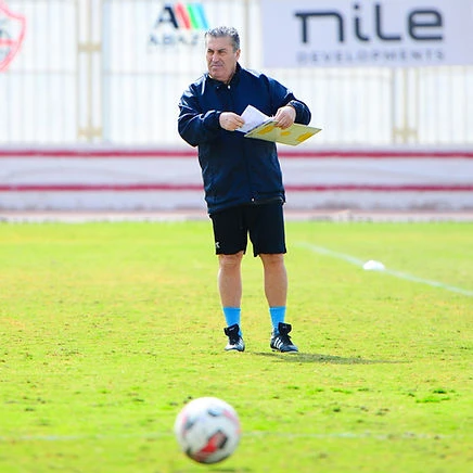
M 471 0 L 261 0 L 261 22 L 266 67 L 473 64 Z

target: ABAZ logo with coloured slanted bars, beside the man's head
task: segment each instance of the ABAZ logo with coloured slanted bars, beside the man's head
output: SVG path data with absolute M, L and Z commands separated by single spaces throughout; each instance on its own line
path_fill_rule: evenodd
M 201 3 L 167 3 L 154 18 L 149 46 L 196 46 L 206 29 L 207 15 Z

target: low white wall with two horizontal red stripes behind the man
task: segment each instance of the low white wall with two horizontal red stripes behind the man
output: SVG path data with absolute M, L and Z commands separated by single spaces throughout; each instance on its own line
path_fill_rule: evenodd
M 473 208 L 473 150 L 280 149 L 287 206 Z M 205 208 L 196 151 L 0 149 L 0 210 Z

